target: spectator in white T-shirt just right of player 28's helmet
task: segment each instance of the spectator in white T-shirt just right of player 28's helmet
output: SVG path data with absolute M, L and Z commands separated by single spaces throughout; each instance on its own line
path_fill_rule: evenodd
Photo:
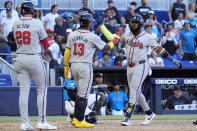
M 46 14 L 44 17 L 44 27 L 45 29 L 51 29 L 54 30 L 55 26 L 55 19 L 57 17 L 62 17 L 65 13 L 58 14 L 58 5 L 52 5 L 51 6 L 51 12 Z

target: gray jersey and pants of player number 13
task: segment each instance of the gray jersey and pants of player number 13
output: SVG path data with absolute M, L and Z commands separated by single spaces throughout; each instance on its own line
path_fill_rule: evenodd
M 77 30 L 68 36 L 67 48 L 71 49 L 71 72 L 78 88 L 78 96 L 88 98 L 92 85 L 92 59 L 96 49 L 106 43 L 89 30 Z

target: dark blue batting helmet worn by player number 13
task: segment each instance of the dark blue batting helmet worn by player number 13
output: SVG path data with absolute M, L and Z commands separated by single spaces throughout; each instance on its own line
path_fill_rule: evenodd
M 79 18 L 81 27 L 88 27 L 89 23 L 93 20 L 93 17 L 89 13 L 82 14 Z

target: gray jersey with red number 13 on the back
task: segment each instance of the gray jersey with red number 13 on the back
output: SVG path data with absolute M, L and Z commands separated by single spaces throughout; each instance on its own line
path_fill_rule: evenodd
M 105 45 L 94 33 L 77 30 L 69 34 L 66 46 L 71 49 L 71 63 L 92 63 L 95 50 L 102 50 Z

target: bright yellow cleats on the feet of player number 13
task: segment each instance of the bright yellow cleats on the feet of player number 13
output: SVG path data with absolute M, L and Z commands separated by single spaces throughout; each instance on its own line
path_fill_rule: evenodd
M 72 125 L 78 128 L 89 128 L 94 127 L 94 124 L 87 123 L 85 120 L 78 121 L 76 118 L 73 118 Z

